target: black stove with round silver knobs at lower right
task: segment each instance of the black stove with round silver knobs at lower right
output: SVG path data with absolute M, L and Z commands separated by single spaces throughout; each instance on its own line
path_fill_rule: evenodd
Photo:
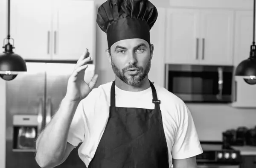
M 240 168 L 241 155 L 222 143 L 201 143 L 204 153 L 196 156 L 198 168 Z

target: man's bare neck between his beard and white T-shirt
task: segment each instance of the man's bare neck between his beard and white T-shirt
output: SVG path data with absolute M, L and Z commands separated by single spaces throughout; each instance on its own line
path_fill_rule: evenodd
M 130 91 L 130 92 L 140 92 L 143 90 L 146 90 L 150 87 L 150 83 L 148 81 L 148 76 L 146 76 L 144 78 L 143 81 L 140 82 L 140 84 L 136 85 L 136 86 L 131 86 L 126 84 L 125 82 L 123 82 L 122 80 L 120 80 L 120 78 L 118 78 L 116 76 L 116 87 L 118 87 L 119 89 L 125 90 L 125 91 Z

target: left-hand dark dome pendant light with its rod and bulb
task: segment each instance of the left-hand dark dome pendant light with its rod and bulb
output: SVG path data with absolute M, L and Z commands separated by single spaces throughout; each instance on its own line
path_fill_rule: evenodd
M 10 0 L 8 0 L 8 28 L 7 38 L 3 40 L 3 48 L 5 50 L 0 53 L 0 77 L 6 81 L 16 78 L 19 72 L 26 72 L 26 62 L 23 58 L 13 52 L 14 39 L 10 38 Z M 10 44 L 10 39 L 13 45 Z M 7 41 L 7 42 L 6 42 Z

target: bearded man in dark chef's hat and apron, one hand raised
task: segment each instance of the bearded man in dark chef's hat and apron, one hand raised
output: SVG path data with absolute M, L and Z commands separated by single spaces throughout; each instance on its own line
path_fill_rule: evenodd
M 52 168 L 81 143 L 87 168 L 197 168 L 201 154 L 189 109 L 148 79 L 154 46 L 149 31 L 157 9 L 148 0 L 108 0 L 97 23 L 107 33 L 114 81 L 92 89 L 83 81 L 88 50 L 70 76 L 58 112 L 38 137 L 36 160 Z

